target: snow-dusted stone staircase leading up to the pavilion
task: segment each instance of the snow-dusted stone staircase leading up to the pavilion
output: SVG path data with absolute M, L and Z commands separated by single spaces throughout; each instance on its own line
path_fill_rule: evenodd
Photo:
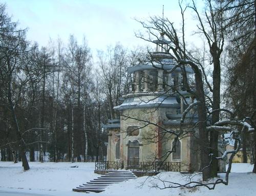
M 73 188 L 76 192 L 102 192 L 111 184 L 116 184 L 126 180 L 134 179 L 136 176 L 131 171 L 114 170 L 107 174 L 87 182 L 86 184 L 79 185 Z

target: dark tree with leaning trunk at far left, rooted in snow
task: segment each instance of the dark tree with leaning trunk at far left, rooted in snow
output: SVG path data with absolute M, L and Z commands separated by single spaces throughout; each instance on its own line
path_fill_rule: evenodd
M 17 29 L 17 23 L 12 22 L 5 12 L 5 5 L 0 5 L 0 75 L 1 94 L 5 100 L 4 107 L 7 107 L 12 121 L 13 132 L 19 145 L 24 170 L 29 169 L 26 157 L 26 143 L 23 133 L 20 130 L 17 108 L 19 107 L 21 93 L 28 76 L 21 71 L 23 69 L 23 57 L 26 55 L 27 42 L 25 30 Z

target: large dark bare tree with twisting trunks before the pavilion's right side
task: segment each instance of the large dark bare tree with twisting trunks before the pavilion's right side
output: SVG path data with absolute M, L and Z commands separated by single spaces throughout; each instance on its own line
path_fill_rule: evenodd
M 200 157 L 201 157 L 201 167 L 203 172 L 203 180 L 207 180 L 212 176 L 217 174 L 217 167 L 214 164 L 212 165 L 212 161 L 218 161 L 217 156 L 217 142 L 218 142 L 218 132 L 223 131 L 230 131 L 230 128 L 223 127 L 224 124 L 221 124 L 219 113 L 220 111 L 226 111 L 220 108 L 220 58 L 223 51 L 223 44 L 224 44 L 224 27 L 222 24 L 222 14 L 217 16 L 217 12 L 212 7 L 211 1 L 206 1 L 207 5 L 209 6 L 209 10 L 205 11 L 205 18 L 206 22 L 202 20 L 201 14 L 198 12 L 194 1 L 192 2 L 192 6 L 188 6 L 191 8 L 197 15 L 199 21 L 199 30 L 205 36 L 209 51 L 210 51 L 210 64 L 214 64 L 213 69 L 213 84 L 214 86 L 211 87 L 210 83 L 207 80 L 207 76 L 205 74 L 204 66 L 200 59 L 195 58 L 196 54 L 193 51 L 189 51 L 186 47 L 186 40 L 185 40 L 185 32 L 184 32 L 184 13 L 187 7 L 182 8 L 182 4 L 180 3 L 181 8 L 181 15 L 182 15 L 182 27 L 178 30 L 174 23 L 167 18 L 160 18 L 160 17 L 151 17 L 149 21 L 139 21 L 143 28 L 146 31 L 148 37 L 145 37 L 143 34 L 137 34 L 137 37 L 140 37 L 146 41 L 153 42 L 153 39 L 159 39 L 157 37 L 158 33 L 161 32 L 163 35 L 170 40 L 170 44 L 168 44 L 168 48 L 164 48 L 166 53 L 168 54 L 169 58 L 172 58 L 174 62 L 176 62 L 174 68 L 172 70 L 168 70 L 168 72 L 174 71 L 177 67 L 182 70 L 182 77 L 183 77 L 183 88 L 192 96 L 194 96 L 197 100 L 196 103 L 191 104 L 188 108 L 184 111 L 183 117 L 181 119 L 181 126 L 180 130 L 182 133 L 182 124 L 184 122 L 184 117 L 186 116 L 187 112 L 192 108 L 196 107 L 198 113 L 198 122 L 196 127 L 199 131 L 199 143 L 200 145 Z M 220 21 L 219 21 L 220 20 Z M 217 23 L 218 22 L 218 23 Z M 181 33 L 179 33 L 181 32 Z M 160 62 L 159 62 L 160 63 Z M 153 64 L 154 66 L 154 64 Z M 163 66 L 163 65 L 162 65 Z M 186 69 L 185 67 L 191 67 L 195 74 L 195 88 L 188 83 Z M 161 67 L 157 67 L 161 68 Z M 204 84 L 206 83 L 207 88 L 212 92 L 213 99 L 209 99 L 209 96 L 206 96 L 204 90 Z M 208 110 L 207 105 L 210 104 L 211 109 Z M 228 113 L 230 113 L 228 111 Z M 212 115 L 212 126 L 208 127 L 206 122 L 209 119 L 209 116 Z M 230 116 L 231 117 L 231 116 Z M 236 123 L 234 125 L 241 125 L 243 130 L 247 128 L 249 132 L 254 131 L 250 126 L 247 126 L 246 120 L 243 121 L 244 124 L 240 124 L 241 121 L 238 119 L 234 120 Z M 216 127 L 216 125 L 222 125 L 220 127 Z M 231 124 L 225 124 L 232 125 Z M 243 131 L 245 132 L 245 131 Z M 170 131 L 173 133 L 173 131 Z M 208 133 L 212 133 L 208 135 Z M 174 134 L 174 133 L 173 133 Z M 177 134 L 176 134 L 177 137 Z M 210 140 L 209 140 L 210 138 Z M 239 139 L 238 139 L 239 140 Z M 243 140 L 243 139 L 242 139 Z M 172 152 L 172 151 L 170 151 Z M 214 152 L 214 153 L 213 153 Z M 227 152 L 227 153 L 236 153 Z M 226 153 L 225 153 L 226 154 Z M 218 165 L 217 165 L 218 166 Z M 231 168 L 231 160 L 230 165 L 228 168 L 227 176 Z M 212 172 L 211 172 L 212 171 Z M 227 184 L 228 180 L 226 181 L 220 180 L 220 183 Z M 218 184 L 218 182 L 217 182 Z

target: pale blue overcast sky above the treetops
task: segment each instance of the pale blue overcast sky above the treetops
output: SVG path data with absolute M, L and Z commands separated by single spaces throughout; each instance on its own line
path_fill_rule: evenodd
M 0 0 L 6 3 L 7 12 L 20 28 L 28 28 L 27 38 L 47 45 L 49 38 L 59 36 L 67 42 L 74 34 L 83 35 L 95 52 L 107 45 L 120 42 L 127 47 L 147 44 L 136 38 L 135 31 L 142 29 L 134 18 L 162 15 L 176 20 L 180 13 L 178 0 Z M 178 22 L 178 21 L 177 21 Z

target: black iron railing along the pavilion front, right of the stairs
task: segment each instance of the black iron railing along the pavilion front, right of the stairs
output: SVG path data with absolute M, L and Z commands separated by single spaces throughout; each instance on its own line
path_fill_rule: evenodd
M 131 171 L 180 171 L 180 162 L 139 162 L 138 164 L 130 163 L 128 169 Z

